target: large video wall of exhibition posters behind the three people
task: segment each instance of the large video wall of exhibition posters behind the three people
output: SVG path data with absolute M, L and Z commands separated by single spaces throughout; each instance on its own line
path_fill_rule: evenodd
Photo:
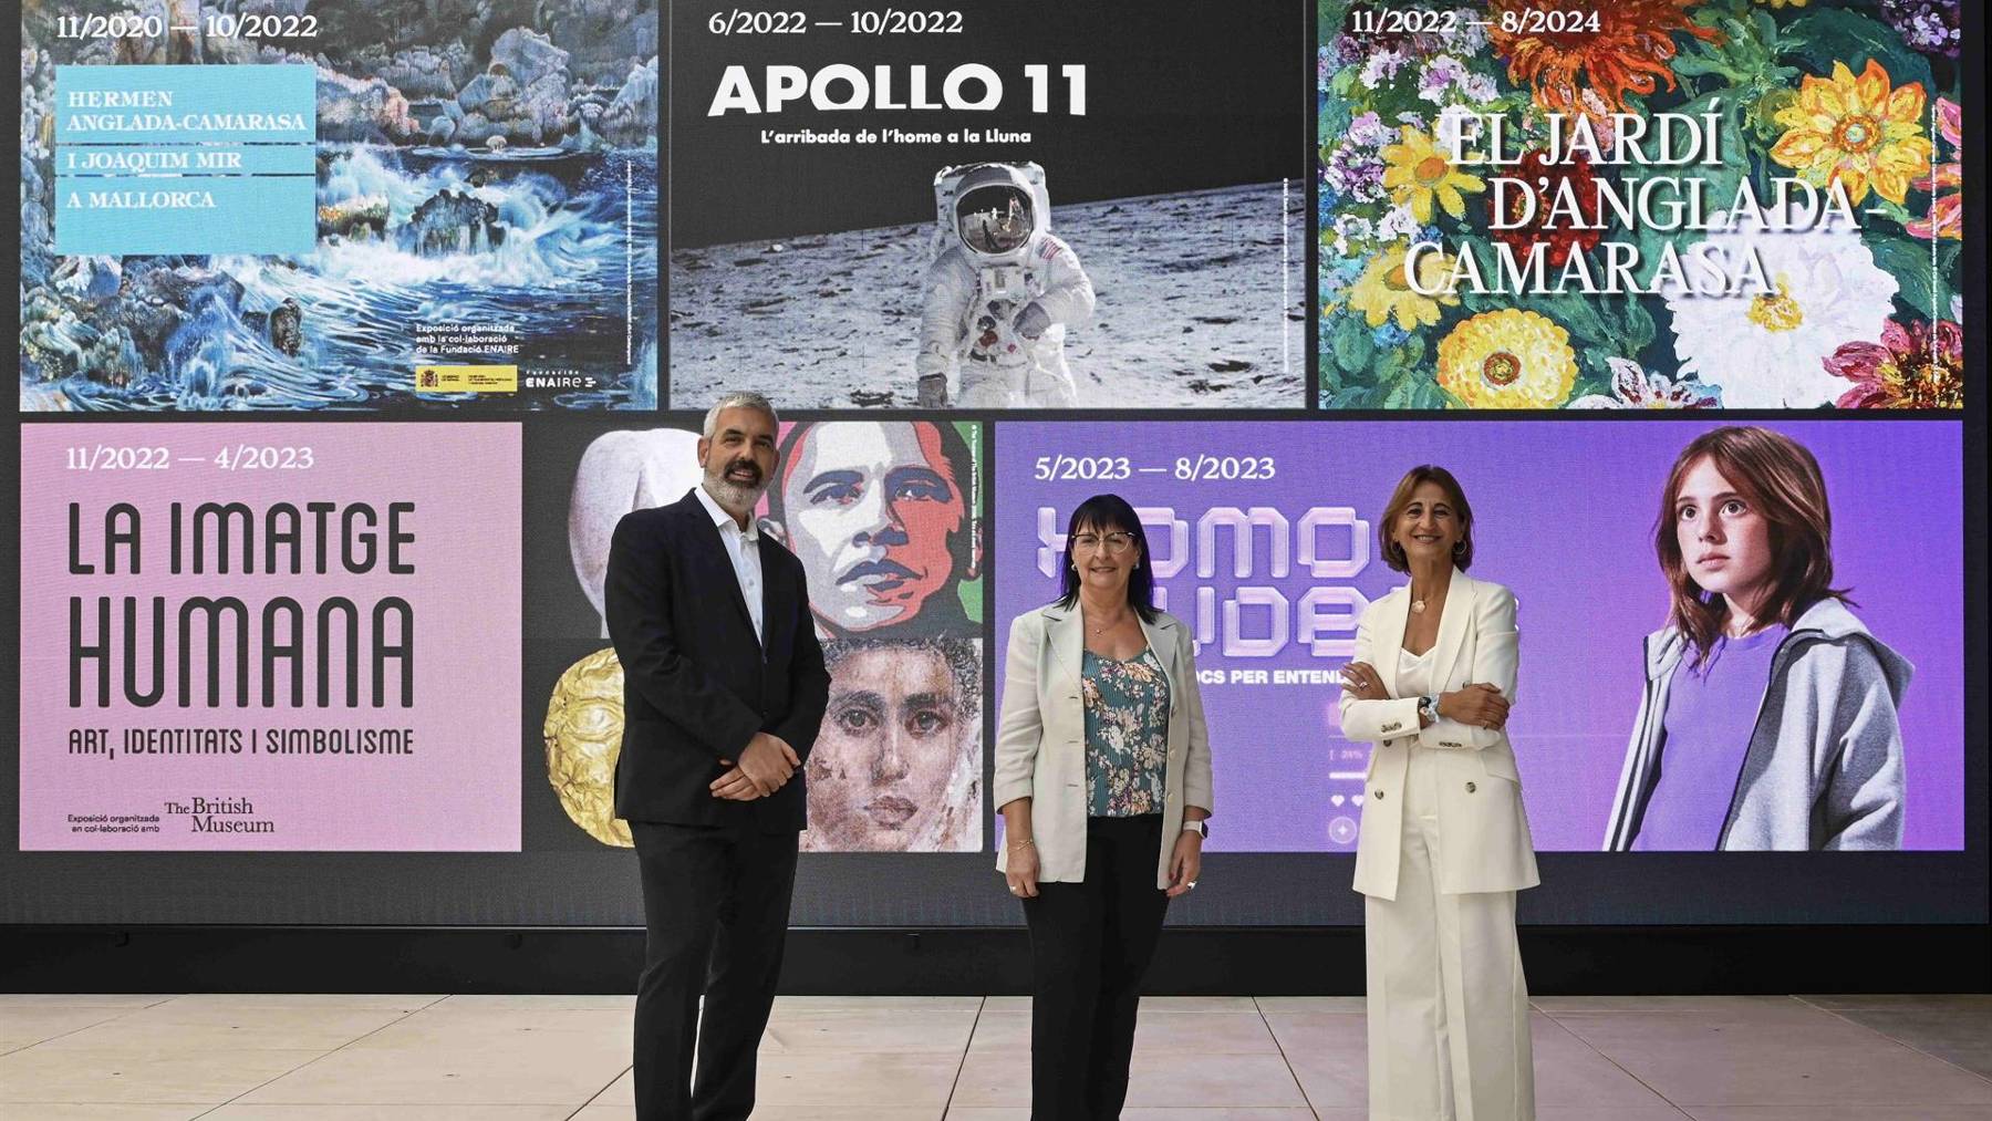
M 1171 914 L 1359 920 L 1339 671 L 1416 464 L 1518 599 L 1526 922 L 1984 922 L 1964 20 L 30 2 L 0 922 L 639 922 L 610 536 L 731 390 L 833 677 L 799 924 L 1020 922 L 1002 653 L 1108 492 L 1209 713 Z M 1725 701 L 1859 788 L 1813 844 L 1639 828 L 1669 480 L 1727 426 L 1825 482 L 1795 639 L 1878 667 Z

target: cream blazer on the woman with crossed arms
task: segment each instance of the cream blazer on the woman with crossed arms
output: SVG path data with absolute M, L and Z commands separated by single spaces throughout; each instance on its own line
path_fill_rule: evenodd
M 1396 659 L 1410 615 L 1410 587 L 1376 599 L 1357 621 L 1357 657 L 1376 669 L 1396 697 Z M 1514 593 L 1500 583 L 1452 569 L 1438 643 L 1432 647 L 1432 691 L 1452 693 L 1482 681 L 1514 701 L 1518 641 Z M 1540 884 L 1536 844 L 1522 810 L 1522 773 L 1514 767 L 1508 733 L 1448 719 L 1418 727 L 1418 699 L 1355 701 L 1343 693 L 1343 739 L 1369 741 L 1363 783 L 1363 834 L 1357 840 L 1357 890 L 1396 898 L 1398 842 L 1404 836 L 1404 775 L 1410 749 L 1436 749 L 1438 765 L 1438 890 L 1512 892 Z

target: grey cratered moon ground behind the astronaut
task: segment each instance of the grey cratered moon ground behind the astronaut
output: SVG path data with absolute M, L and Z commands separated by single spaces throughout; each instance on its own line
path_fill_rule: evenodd
M 1301 408 L 1305 193 L 1259 183 L 1052 209 L 1094 281 L 1084 408 Z M 932 223 L 671 255 L 671 406 L 912 408 Z M 950 396 L 954 384 L 950 378 Z

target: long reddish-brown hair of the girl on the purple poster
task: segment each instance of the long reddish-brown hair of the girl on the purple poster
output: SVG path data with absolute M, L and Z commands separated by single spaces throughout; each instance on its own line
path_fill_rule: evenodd
M 1703 591 L 1687 573 L 1675 530 L 1681 480 L 1703 456 L 1771 524 L 1771 595 L 1759 617 L 1791 627 L 1813 603 L 1847 599 L 1845 589 L 1833 587 L 1833 508 L 1827 504 L 1827 478 L 1813 452 L 1769 428 L 1727 426 L 1705 432 L 1673 460 L 1661 492 L 1659 522 L 1653 526 L 1653 552 L 1667 577 L 1671 623 L 1695 647 L 1693 665 L 1707 661 L 1729 617 L 1723 597 Z

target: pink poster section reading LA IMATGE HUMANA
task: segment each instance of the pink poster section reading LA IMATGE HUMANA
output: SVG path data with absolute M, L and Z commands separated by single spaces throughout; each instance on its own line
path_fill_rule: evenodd
M 516 852 L 516 424 L 26 424 L 24 850 Z

